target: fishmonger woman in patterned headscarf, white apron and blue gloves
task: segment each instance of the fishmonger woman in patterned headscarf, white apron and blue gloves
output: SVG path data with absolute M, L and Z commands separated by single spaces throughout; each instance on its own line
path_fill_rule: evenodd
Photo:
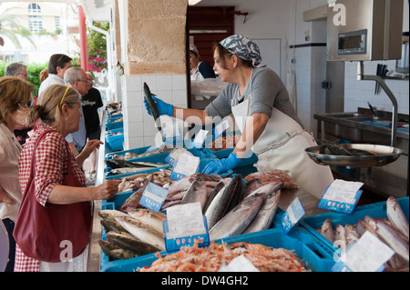
M 222 81 L 230 83 L 220 95 L 205 110 L 177 108 L 154 96 L 159 115 L 183 120 L 190 117 L 207 125 L 212 118 L 232 114 L 241 139 L 228 158 L 210 162 L 204 173 L 233 169 L 251 150 L 270 168 L 286 171 L 304 190 L 321 197 L 326 186 L 333 183 L 332 172 L 305 153 L 307 147 L 317 144 L 304 130 L 280 77 L 261 66 L 258 45 L 242 35 L 231 35 L 215 46 L 213 57 L 215 71 Z

